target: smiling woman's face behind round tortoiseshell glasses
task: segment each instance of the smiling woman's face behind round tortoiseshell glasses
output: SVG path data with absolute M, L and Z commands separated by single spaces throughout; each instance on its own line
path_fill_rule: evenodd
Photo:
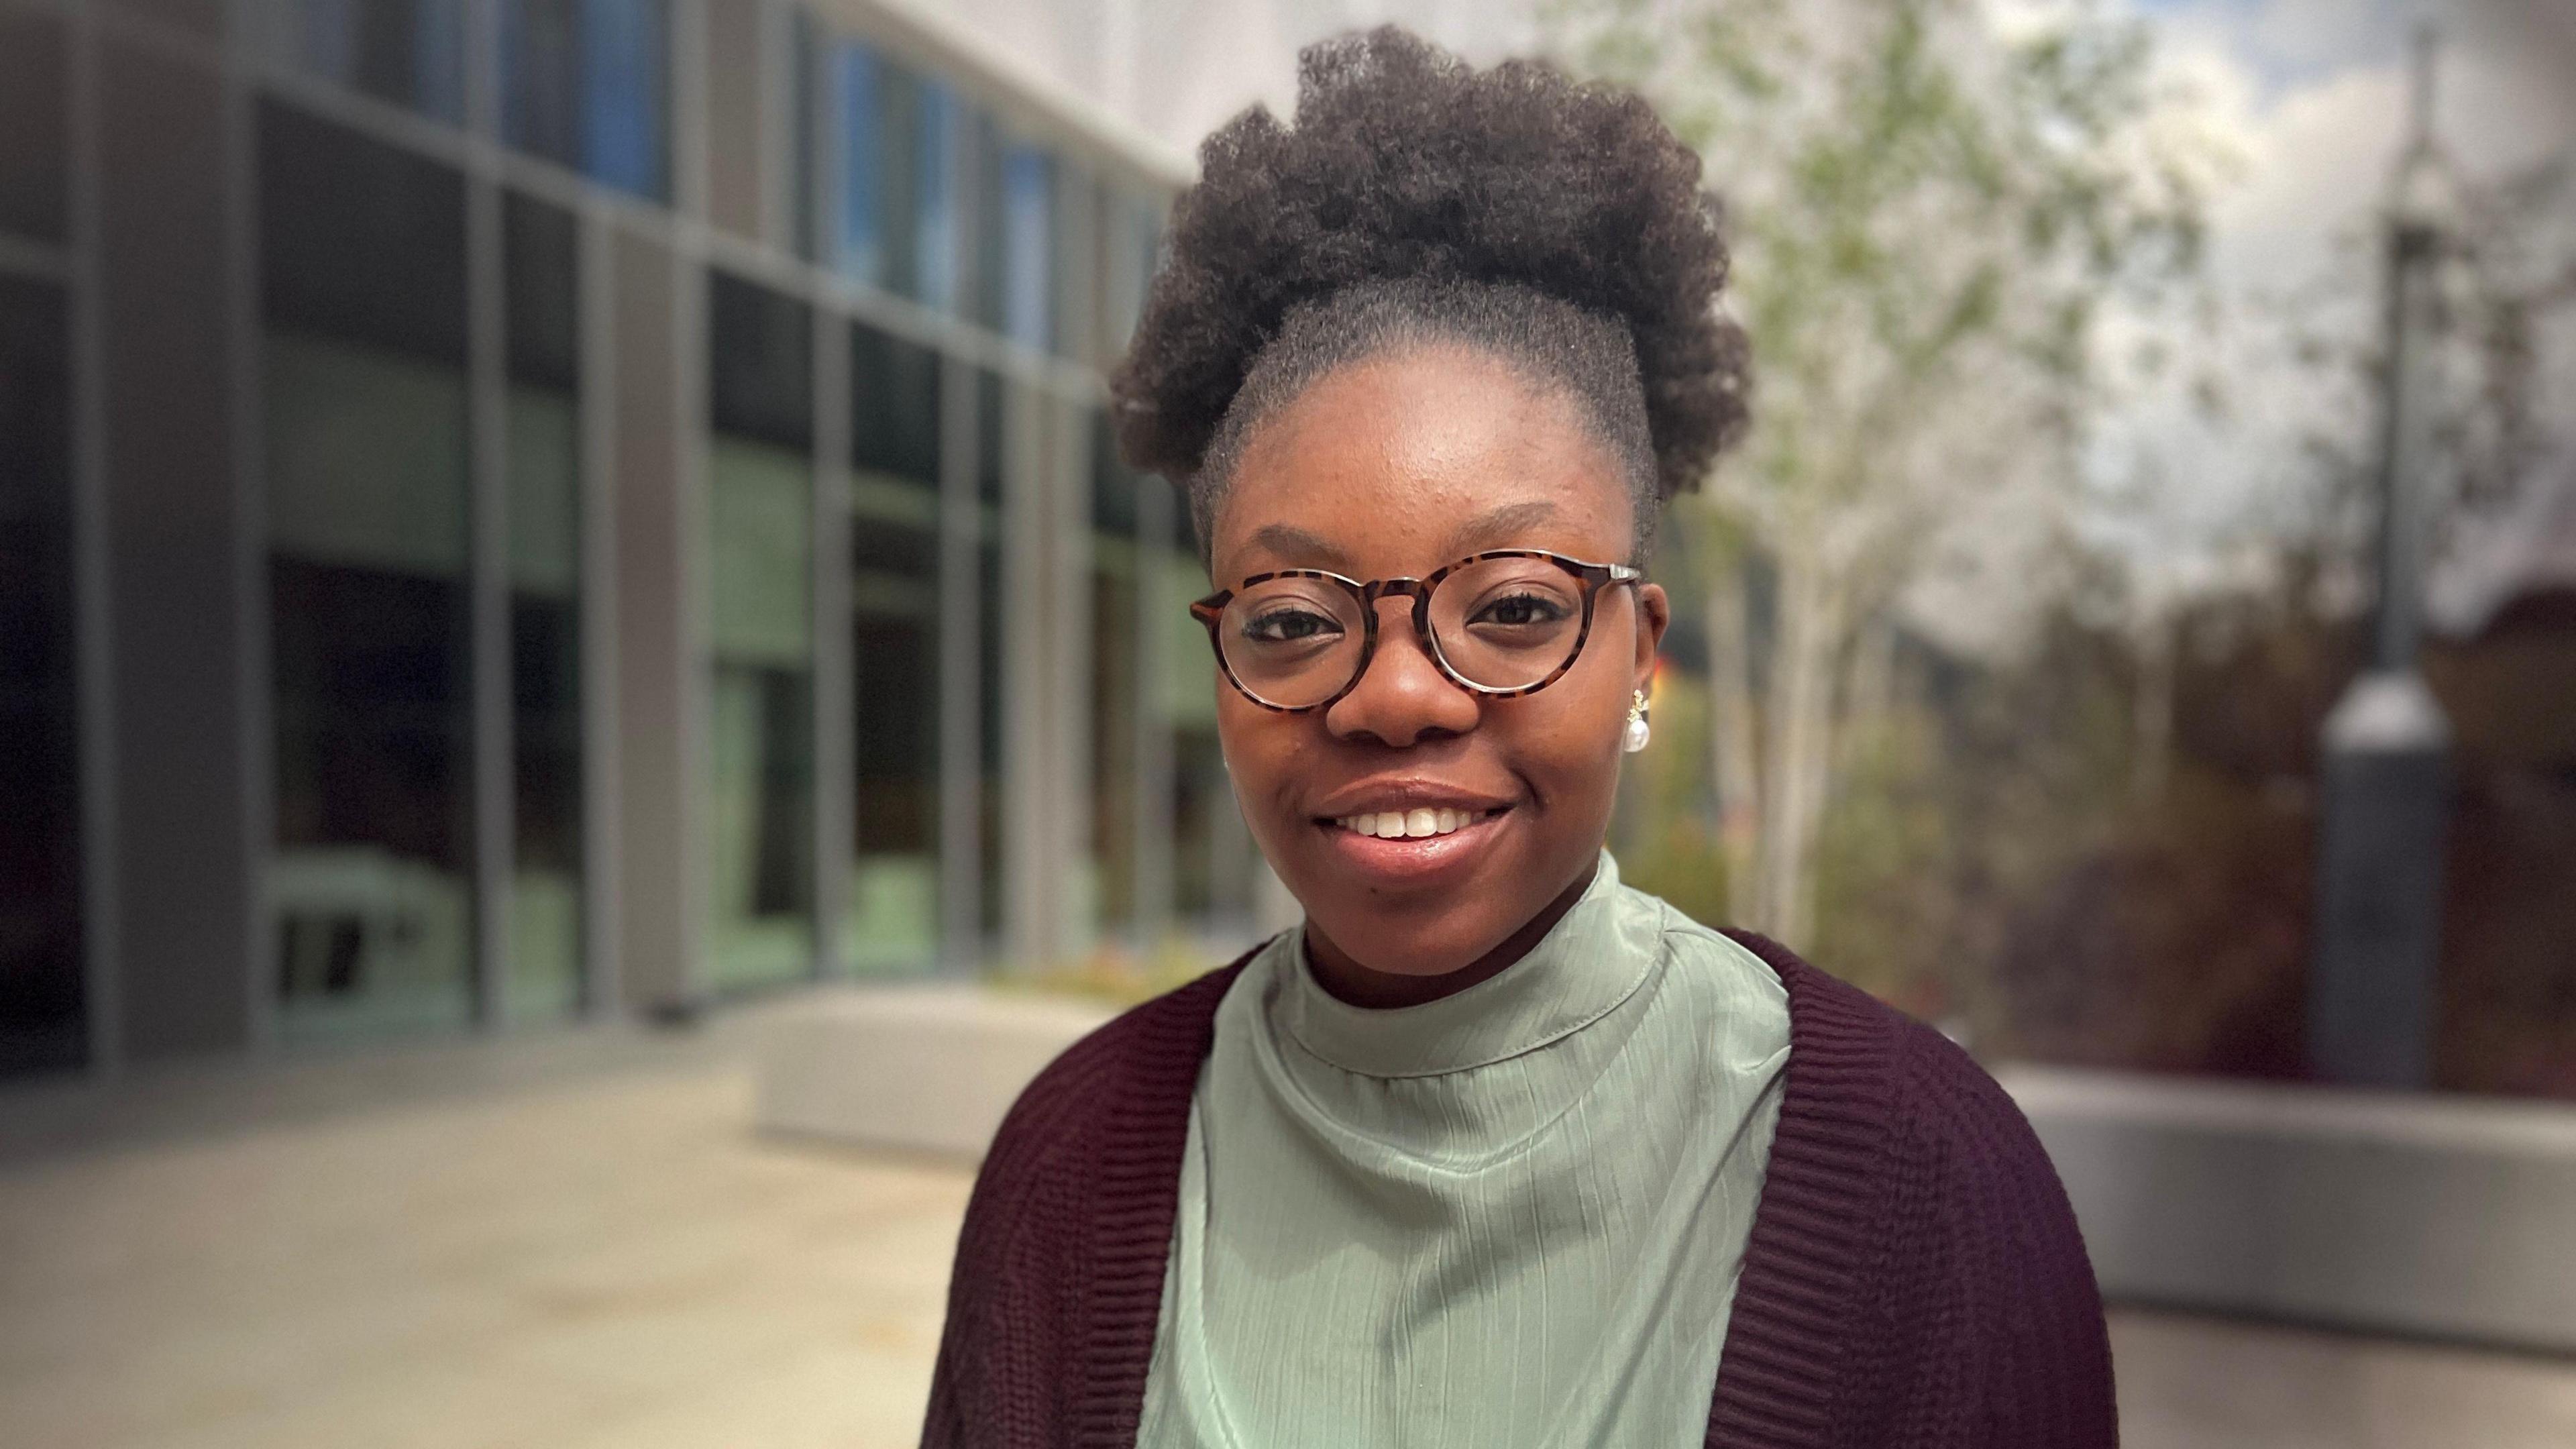
M 1625 562 L 1633 529 L 1628 487 L 1569 397 L 1479 348 L 1412 345 L 1327 374 L 1255 428 L 1211 562 L 1218 588 L 1285 567 L 1430 578 L 1484 549 Z M 1574 668 L 1517 699 L 1450 683 L 1409 598 L 1376 608 L 1378 650 L 1350 694 L 1278 714 L 1218 681 L 1216 730 L 1316 957 L 1445 975 L 1587 879 L 1667 603 L 1656 585 L 1602 588 Z M 1404 841 L 1337 822 L 1414 807 L 1489 815 Z

